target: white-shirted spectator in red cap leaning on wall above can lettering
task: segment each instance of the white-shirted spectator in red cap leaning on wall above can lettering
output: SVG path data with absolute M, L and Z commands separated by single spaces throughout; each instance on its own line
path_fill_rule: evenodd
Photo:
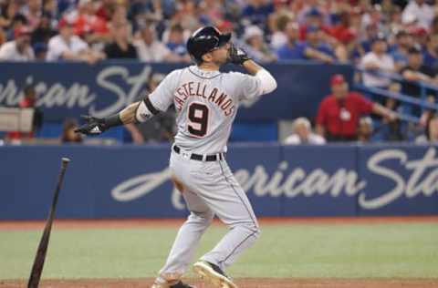
M 105 56 L 92 51 L 81 38 L 73 35 L 73 24 L 66 18 L 59 21 L 59 35 L 48 41 L 47 61 L 70 60 L 96 63 Z

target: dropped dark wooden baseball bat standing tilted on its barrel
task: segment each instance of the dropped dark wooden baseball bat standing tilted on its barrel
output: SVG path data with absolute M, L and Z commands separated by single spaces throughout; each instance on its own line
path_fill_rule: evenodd
M 43 272 L 44 262 L 46 261 L 48 241 L 50 239 L 50 231 L 52 231 L 52 223 L 53 219 L 55 218 L 55 211 L 57 209 L 57 197 L 59 195 L 59 190 L 61 190 L 62 180 L 64 179 L 64 174 L 66 173 L 69 161 L 70 159 L 68 158 L 63 158 L 61 160 L 61 170 L 57 179 L 57 189 L 53 195 L 52 206 L 50 207 L 43 236 L 41 236 L 41 240 L 39 241 L 38 250 L 36 251 L 34 265 L 32 266 L 32 271 L 30 272 L 27 288 L 37 288 L 41 278 L 41 273 Z

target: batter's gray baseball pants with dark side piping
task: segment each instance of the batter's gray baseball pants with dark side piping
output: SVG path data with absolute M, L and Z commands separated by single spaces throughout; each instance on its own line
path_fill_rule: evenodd
M 181 151 L 178 154 L 172 150 L 170 169 L 175 180 L 182 184 L 180 190 L 191 213 L 178 231 L 160 274 L 187 271 L 199 240 L 214 215 L 228 226 L 229 231 L 201 259 L 224 270 L 255 242 L 260 233 L 245 191 L 224 159 L 194 160 L 190 159 L 190 153 Z

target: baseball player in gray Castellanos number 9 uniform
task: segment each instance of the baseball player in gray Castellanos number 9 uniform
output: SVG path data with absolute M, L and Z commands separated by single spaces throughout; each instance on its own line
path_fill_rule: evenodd
M 86 117 L 87 124 L 78 129 L 84 134 L 99 134 L 114 126 L 146 121 L 172 104 L 175 107 L 177 133 L 170 170 L 190 215 L 152 288 L 193 288 L 181 278 L 214 215 L 229 231 L 211 252 L 193 264 L 193 271 L 215 287 L 236 288 L 224 270 L 260 233 L 245 191 L 225 161 L 226 142 L 239 103 L 274 91 L 276 80 L 230 43 L 230 37 L 213 26 L 198 29 L 187 41 L 196 65 L 172 71 L 141 102 L 114 116 Z M 226 63 L 245 67 L 249 75 L 220 72 Z

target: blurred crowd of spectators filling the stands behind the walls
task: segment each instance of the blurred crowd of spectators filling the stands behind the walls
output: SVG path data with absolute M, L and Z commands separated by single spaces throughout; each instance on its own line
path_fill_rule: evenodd
M 365 71 L 355 78 L 364 86 L 412 98 L 424 95 L 409 81 L 438 84 L 438 1 L 426 0 L 0 0 L 0 60 L 190 63 L 186 39 L 206 25 L 231 32 L 233 42 L 261 63 L 352 64 Z M 392 81 L 396 76 L 407 82 Z M 342 83 L 331 84 L 336 90 Z M 434 92 L 426 98 L 433 103 Z M 399 108 L 391 98 L 370 100 L 381 108 Z M 381 139 L 408 138 L 389 111 L 368 107 L 368 113 L 380 115 L 379 122 L 390 123 L 390 136 Z M 435 113 L 411 112 L 420 119 L 414 129 L 425 130 L 426 139 L 433 137 Z M 354 135 L 332 137 L 336 131 L 330 132 L 329 119 L 318 115 L 310 120 L 321 137 L 333 140 L 360 139 L 360 125 L 365 131 L 372 126 L 370 118 L 354 118 Z M 302 118 L 298 124 L 311 129 Z

